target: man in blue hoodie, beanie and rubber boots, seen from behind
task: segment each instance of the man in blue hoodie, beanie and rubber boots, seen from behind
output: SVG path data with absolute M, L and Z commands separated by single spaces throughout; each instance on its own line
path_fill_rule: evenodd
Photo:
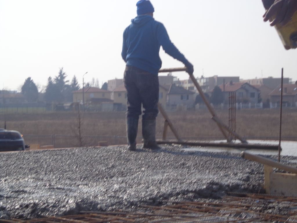
M 137 17 L 124 30 L 122 57 L 126 62 L 124 83 L 127 89 L 127 140 L 128 149 L 136 149 L 138 119 L 141 105 L 143 147 L 159 149 L 156 135 L 156 117 L 158 115 L 159 79 L 158 72 L 162 66 L 159 56 L 160 47 L 173 58 L 187 67 L 193 74 L 193 65 L 181 54 L 170 41 L 164 25 L 153 18 L 154 7 L 148 0 L 136 4 Z

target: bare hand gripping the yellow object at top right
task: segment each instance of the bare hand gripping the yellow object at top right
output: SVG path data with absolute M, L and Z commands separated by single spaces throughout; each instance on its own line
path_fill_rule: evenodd
M 264 21 L 268 21 L 271 16 L 276 15 L 270 23 L 274 26 L 278 23 L 287 24 L 297 10 L 297 0 L 275 0 L 271 7 L 263 15 Z

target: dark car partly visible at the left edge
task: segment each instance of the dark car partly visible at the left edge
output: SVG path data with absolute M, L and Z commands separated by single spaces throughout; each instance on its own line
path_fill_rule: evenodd
M 0 128 L 0 152 L 20 151 L 28 148 L 23 136 L 18 131 Z

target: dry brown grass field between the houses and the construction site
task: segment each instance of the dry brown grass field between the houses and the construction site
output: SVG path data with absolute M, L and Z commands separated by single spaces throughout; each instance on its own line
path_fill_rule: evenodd
M 197 139 L 222 139 L 217 125 L 205 110 L 168 113 L 181 137 Z M 228 125 L 228 110 L 217 110 L 218 116 Z M 52 144 L 52 137 L 41 135 L 78 135 L 78 113 L 39 113 L 39 114 L 6 114 L 7 129 L 20 131 L 26 143 Z M 157 136 L 162 136 L 164 119 L 161 114 L 157 118 Z M 282 136 L 284 139 L 297 140 L 297 110 L 284 109 Z M 4 127 L 4 115 L 0 114 L 0 128 Z M 81 133 L 84 136 L 125 136 L 124 112 L 84 113 Z M 242 136 L 275 137 L 279 135 L 278 109 L 247 109 L 236 113 L 236 132 Z M 40 135 L 29 136 L 29 135 Z M 141 118 L 138 136 L 141 136 Z M 173 136 L 168 131 L 168 136 Z M 84 138 L 85 145 L 98 145 L 98 141 L 108 140 L 110 144 L 124 144 L 126 140 L 119 138 Z M 139 138 L 139 142 L 141 137 Z M 71 147 L 79 144 L 78 139 L 69 136 L 55 138 L 56 147 Z

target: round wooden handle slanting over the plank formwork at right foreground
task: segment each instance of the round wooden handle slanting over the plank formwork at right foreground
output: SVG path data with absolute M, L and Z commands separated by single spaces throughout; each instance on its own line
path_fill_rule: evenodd
M 251 161 L 256 161 L 258 163 L 265 164 L 265 165 L 270 166 L 270 167 L 275 167 L 275 168 L 278 168 L 278 169 L 282 169 L 282 170 L 297 174 L 297 168 L 290 167 L 288 165 L 278 163 L 278 162 L 276 162 L 274 160 L 271 160 L 271 159 L 268 159 L 268 158 L 252 155 L 252 154 L 246 153 L 246 152 L 242 152 L 241 157 L 245 158 L 245 159 L 249 159 Z

